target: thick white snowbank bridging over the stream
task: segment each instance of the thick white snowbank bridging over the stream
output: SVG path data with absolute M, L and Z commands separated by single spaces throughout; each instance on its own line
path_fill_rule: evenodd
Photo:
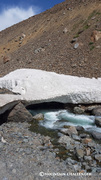
M 50 101 L 101 103 L 101 78 L 90 79 L 36 69 L 18 69 L 0 78 L 0 88 L 20 94 L 9 95 L 9 98 L 0 95 L 0 106 L 15 99 L 22 99 L 29 104 Z

